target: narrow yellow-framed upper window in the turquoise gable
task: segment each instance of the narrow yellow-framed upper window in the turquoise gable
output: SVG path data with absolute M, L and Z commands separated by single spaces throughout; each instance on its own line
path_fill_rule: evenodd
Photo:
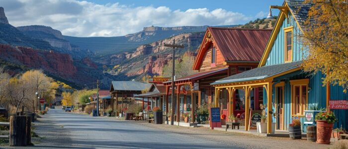
M 293 27 L 286 27 L 284 28 L 284 33 L 285 33 L 285 41 L 284 41 L 284 45 L 285 45 L 285 50 L 284 50 L 284 61 L 285 62 L 291 62 L 292 61 L 292 31 L 293 31 Z

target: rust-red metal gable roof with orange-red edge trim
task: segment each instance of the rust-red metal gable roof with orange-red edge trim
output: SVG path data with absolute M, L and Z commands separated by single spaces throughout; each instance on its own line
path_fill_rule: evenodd
M 193 70 L 199 69 L 206 50 L 209 48 L 205 45 L 209 42 L 207 41 L 209 34 L 211 34 L 215 46 L 221 51 L 225 61 L 259 62 L 270 33 L 271 29 L 208 27 Z

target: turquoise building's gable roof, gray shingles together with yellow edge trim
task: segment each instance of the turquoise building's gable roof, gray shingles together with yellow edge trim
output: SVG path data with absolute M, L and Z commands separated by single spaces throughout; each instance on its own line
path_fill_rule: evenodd
M 296 21 L 297 26 L 302 31 L 302 29 L 304 28 L 303 23 L 308 17 L 308 11 L 311 5 L 304 3 L 304 0 L 285 0 L 283 2 L 283 6 L 287 6 L 289 8 L 290 13 L 292 14 L 292 16 L 294 16 L 294 20 Z M 284 19 L 285 19 L 285 14 L 280 11 L 278 14 L 278 18 L 275 22 L 275 26 L 272 30 L 270 38 L 267 42 L 267 45 L 261 57 L 259 67 L 264 66 L 266 64 L 267 58 L 272 49 L 274 41 L 276 40 L 277 34 L 279 33 L 279 30 L 281 28 L 281 25 Z

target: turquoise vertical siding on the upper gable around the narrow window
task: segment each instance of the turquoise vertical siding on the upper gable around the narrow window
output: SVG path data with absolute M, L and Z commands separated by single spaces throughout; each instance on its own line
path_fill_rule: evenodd
M 287 23 L 287 18 L 283 20 L 283 23 L 281 25 L 281 28 L 278 32 L 278 35 L 273 43 L 272 49 L 269 53 L 269 56 L 266 61 L 267 65 L 274 65 L 274 64 L 282 64 L 284 63 L 284 28 L 293 26 L 293 43 L 292 43 L 292 62 L 294 61 L 301 61 L 303 52 L 302 52 L 302 46 L 300 43 L 300 39 L 298 37 L 298 34 L 300 33 L 300 29 L 297 26 L 296 21 L 293 19 L 293 16 L 289 12 L 289 23 Z M 279 20 L 280 21 L 280 20 Z

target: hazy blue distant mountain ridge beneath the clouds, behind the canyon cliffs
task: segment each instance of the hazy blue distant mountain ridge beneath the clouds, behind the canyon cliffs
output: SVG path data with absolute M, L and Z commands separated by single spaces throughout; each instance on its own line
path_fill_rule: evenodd
M 233 27 L 236 25 L 226 25 Z M 183 33 L 205 32 L 208 26 L 179 26 L 179 27 L 144 27 L 142 31 L 118 37 L 72 37 L 64 36 L 70 43 L 82 49 L 88 49 L 99 55 L 112 55 L 122 52 L 134 52 L 144 44 L 164 40 Z

